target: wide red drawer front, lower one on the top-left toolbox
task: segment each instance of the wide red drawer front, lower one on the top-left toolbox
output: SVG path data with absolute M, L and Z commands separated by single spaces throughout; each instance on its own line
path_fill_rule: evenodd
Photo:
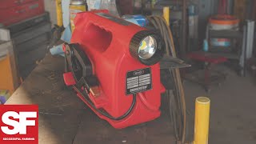
M 20 22 L 23 19 L 31 18 L 44 13 L 43 1 L 28 2 L 20 6 L 0 9 L 0 23 L 4 26 Z

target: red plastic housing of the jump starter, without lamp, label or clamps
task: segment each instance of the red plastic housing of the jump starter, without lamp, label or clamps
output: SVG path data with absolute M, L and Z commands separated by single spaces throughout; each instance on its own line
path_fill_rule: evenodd
M 132 94 L 126 95 L 126 73 L 131 70 L 150 67 L 153 88 L 137 94 L 134 110 L 127 118 L 120 121 L 111 120 L 92 110 L 118 129 L 158 118 L 161 93 L 165 91 L 160 82 L 159 63 L 154 66 L 145 66 L 133 58 L 129 51 L 130 40 L 134 34 L 146 29 L 132 23 L 125 26 L 118 20 L 103 18 L 98 13 L 108 14 L 106 10 L 78 14 L 74 21 L 75 30 L 71 38 L 71 43 L 79 43 L 90 58 L 94 74 L 100 82 L 102 94 L 97 98 L 90 95 L 94 105 L 106 110 L 113 117 L 125 114 L 133 100 Z M 72 76 L 66 74 L 66 77 Z M 69 82 L 72 84 L 72 81 Z M 86 102 L 81 95 L 78 94 L 78 97 Z

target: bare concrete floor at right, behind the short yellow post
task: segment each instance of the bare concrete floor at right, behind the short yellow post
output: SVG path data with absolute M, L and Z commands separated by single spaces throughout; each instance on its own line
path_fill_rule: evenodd
M 194 99 L 207 96 L 210 106 L 209 143 L 255 144 L 256 143 L 256 84 L 229 69 L 228 77 L 221 86 L 215 86 L 207 94 L 201 86 L 185 82 L 187 108 L 194 110 Z

